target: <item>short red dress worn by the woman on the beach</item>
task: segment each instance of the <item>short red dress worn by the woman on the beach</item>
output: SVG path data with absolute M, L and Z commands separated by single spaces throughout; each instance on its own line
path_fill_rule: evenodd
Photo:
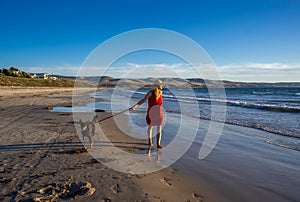
M 161 126 L 163 124 L 164 114 L 162 110 L 162 95 L 155 98 L 154 91 L 148 98 L 148 110 L 146 122 L 149 126 Z

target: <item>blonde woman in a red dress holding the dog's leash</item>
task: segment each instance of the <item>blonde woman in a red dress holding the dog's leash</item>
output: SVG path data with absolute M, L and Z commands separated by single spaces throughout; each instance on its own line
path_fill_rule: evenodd
M 141 99 L 137 104 L 132 106 L 130 109 L 135 110 L 139 105 L 142 105 L 146 100 L 148 100 L 148 110 L 146 116 L 146 122 L 148 125 L 148 139 L 149 146 L 154 146 L 152 142 L 152 128 L 156 126 L 156 143 L 157 148 L 162 148 L 161 141 L 161 126 L 163 124 L 163 110 L 162 110 L 162 88 L 163 83 L 161 80 L 157 79 L 154 82 L 153 90 L 149 91 L 147 95 Z

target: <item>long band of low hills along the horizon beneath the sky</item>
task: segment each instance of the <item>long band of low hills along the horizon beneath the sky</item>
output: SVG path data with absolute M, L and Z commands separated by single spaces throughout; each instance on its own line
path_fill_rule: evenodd
M 35 78 L 39 76 L 39 78 Z M 34 77 L 34 78 L 33 78 Z M 36 86 L 36 87 L 73 87 L 76 81 L 77 86 L 98 86 L 98 87 L 120 87 L 120 88 L 142 88 L 152 87 L 156 78 L 113 78 L 110 76 L 88 76 L 74 77 L 62 75 L 46 75 L 41 73 L 23 72 L 18 68 L 0 69 L 0 86 Z M 300 82 L 232 82 L 204 80 L 201 78 L 160 78 L 167 88 L 300 88 Z

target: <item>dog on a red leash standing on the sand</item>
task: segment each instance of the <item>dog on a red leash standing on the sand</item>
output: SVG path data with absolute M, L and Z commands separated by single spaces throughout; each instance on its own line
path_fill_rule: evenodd
M 89 139 L 91 149 L 94 148 L 95 124 L 97 123 L 97 120 L 97 115 L 94 116 L 92 121 L 83 122 L 79 119 L 83 144 L 86 144 L 85 137 L 87 137 Z

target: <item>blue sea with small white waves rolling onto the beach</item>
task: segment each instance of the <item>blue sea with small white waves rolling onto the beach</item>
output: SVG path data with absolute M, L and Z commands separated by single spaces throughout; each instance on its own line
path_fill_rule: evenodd
M 138 102 L 149 90 L 101 90 L 95 94 L 101 102 L 89 107 L 121 111 Z M 212 117 L 211 110 L 226 107 L 225 123 L 266 131 L 268 133 L 257 135 L 263 135 L 269 144 L 300 151 L 300 88 L 230 88 L 225 89 L 225 93 L 226 97 L 219 96 L 218 89 L 213 94 L 204 88 L 163 89 L 165 117 L 173 117 L 166 119 L 164 128 L 176 127 L 174 117 L 181 114 L 194 119 L 223 121 L 218 115 Z M 180 103 L 188 108 L 183 111 Z M 146 110 L 147 103 L 131 111 L 132 121 L 146 127 Z

